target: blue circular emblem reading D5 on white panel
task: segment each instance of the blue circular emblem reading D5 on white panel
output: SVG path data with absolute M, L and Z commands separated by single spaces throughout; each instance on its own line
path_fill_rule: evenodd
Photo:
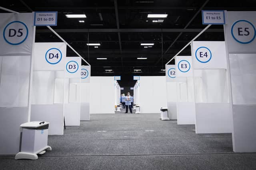
M 12 21 L 4 27 L 3 36 L 8 44 L 19 45 L 27 39 L 28 27 L 21 21 Z

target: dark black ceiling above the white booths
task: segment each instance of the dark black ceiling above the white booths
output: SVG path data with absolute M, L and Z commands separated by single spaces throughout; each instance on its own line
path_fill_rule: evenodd
M 202 9 L 254 11 L 256 1 L 8 0 L 1 1 L 0 6 L 17 12 L 58 11 L 58 25 L 52 28 L 91 64 L 91 75 L 121 75 L 121 86 L 132 86 L 133 75 L 165 75 L 161 69 L 166 62 L 206 27 L 202 25 Z M 86 14 L 87 18 L 79 23 L 81 19 L 66 18 L 65 14 Z M 168 17 L 162 23 L 153 23 L 148 14 L 168 14 Z M 224 41 L 223 26 L 212 25 L 197 40 Z M 36 27 L 36 42 L 60 41 L 47 27 Z M 88 42 L 101 45 L 88 47 Z M 144 48 L 140 43 L 155 44 Z M 76 56 L 71 49 L 67 55 Z M 180 55 L 190 55 L 190 48 Z M 97 60 L 98 57 L 107 60 Z M 147 59 L 137 60 L 137 57 Z M 134 73 L 134 69 L 142 71 Z

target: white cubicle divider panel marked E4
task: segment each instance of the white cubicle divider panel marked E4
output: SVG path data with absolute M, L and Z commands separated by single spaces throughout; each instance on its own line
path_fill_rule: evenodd
M 193 41 L 191 53 L 196 133 L 231 133 L 225 41 Z

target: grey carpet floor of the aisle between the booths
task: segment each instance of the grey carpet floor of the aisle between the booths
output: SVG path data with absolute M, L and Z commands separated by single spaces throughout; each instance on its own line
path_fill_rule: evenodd
M 256 169 L 256 153 L 234 153 L 230 133 L 196 134 L 194 125 L 160 121 L 160 114 L 94 114 L 38 160 L 0 156 L 0 169 Z

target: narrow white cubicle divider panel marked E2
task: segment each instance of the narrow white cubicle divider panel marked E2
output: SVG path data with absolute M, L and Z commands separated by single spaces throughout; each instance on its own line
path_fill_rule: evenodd
M 169 119 L 177 119 L 176 65 L 166 65 L 166 93 Z

